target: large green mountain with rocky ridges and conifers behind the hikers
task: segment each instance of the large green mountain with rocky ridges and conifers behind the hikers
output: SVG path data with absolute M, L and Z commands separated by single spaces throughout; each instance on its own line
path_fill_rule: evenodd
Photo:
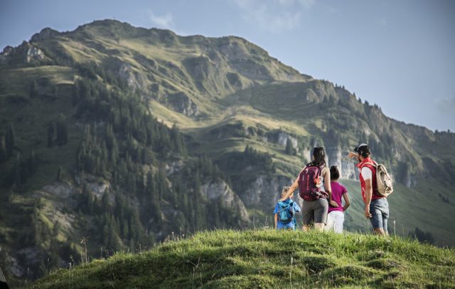
M 100 257 L 267 226 L 315 146 L 341 168 L 348 230 L 368 231 L 345 157 L 360 142 L 396 181 L 389 231 L 453 246 L 454 141 L 242 38 L 112 20 L 44 28 L 0 53 L 0 266 L 31 279 L 84 245 Z

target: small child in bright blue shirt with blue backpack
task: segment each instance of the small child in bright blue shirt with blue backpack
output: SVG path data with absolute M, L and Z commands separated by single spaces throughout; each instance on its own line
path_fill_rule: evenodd
M 282 196 L 287 194 L 287 191 L 289 191 L 289 186 L 284 186 L 282 190 Z M 300 211 L 299 205 L 295 201 L 292 201 L 291 196 L 289 196 L 289 198 L 285 201 L 278 201 L 273 211 L 275 219 L 275 228 L 277 230 L 281 228 L 295 230 L 296 219 L 294 214 L 299 211 Z M 282 217 L 284 217 L 285 219 L 283 220 Z

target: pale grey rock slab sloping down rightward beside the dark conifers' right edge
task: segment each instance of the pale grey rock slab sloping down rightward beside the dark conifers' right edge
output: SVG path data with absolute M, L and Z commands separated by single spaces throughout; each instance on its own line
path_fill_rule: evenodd
M 203 184 L 200 187 L 200 191 L 210 202 L 219 201 L 223 208 L 235 211 L 237 216 L 240 216 L 240 220 L 245 223 L 250 222 L 250 216 L 248 216 L 242 199 L 225 182 L 218 180 Z

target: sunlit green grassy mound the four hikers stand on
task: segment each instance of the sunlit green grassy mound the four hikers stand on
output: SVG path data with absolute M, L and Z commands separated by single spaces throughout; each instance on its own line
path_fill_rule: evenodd
M 455 250 L 402 238 L 301 231 L 208 231 L 117 253 L 33 288 L 455 288 Z

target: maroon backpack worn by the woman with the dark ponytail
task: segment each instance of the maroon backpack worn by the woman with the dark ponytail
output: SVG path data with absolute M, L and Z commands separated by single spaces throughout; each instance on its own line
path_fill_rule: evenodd
M 310 164 L 299 174 L 299 195 L 304 201 L 315 201 L 326 198 L 326 192 L 321 190 L 320 177 L 322 168 Z

